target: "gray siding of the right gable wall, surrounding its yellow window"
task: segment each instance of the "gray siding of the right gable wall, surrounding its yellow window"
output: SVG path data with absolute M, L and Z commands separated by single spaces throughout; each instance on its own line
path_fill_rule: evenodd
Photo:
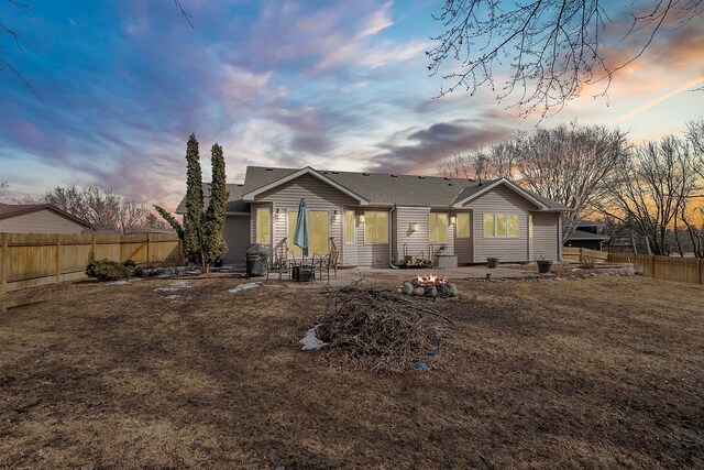
M 498 256 L 502 262 L 528 260 L 528 212 L 536 206 L 514 190 L 498 185 L 465 205 L 472 209 L 472 236 L 474 237 L 474 262 L 483 263 L 486 258 Z M 517 238 L 484 238 L 484 214 L 508 212 L 518 215 Z M 535 219 L 534 219 L 535 225 Z M 557 230 L 557 229 L 556 229 Z

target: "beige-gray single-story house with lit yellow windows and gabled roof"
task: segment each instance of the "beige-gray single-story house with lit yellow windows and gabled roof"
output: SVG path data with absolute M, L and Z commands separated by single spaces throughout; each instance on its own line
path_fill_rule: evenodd
M 571 210 L 503 178 L 250 166 L 244 183 L 228 188 L 224 264 L 243 264 L 251 242 L 300 256 L 293 233 L 301 198 L 309 211 L 309 254 L 328 253 L 332 240 L 344 266 L 388 266 L 437 254 L 458 264 L 490 256 L 559 260 L 560 214 Z M 207 196 L 209 185 L 204 189 Z M 185 204 L 177 214 L 186 214 Z

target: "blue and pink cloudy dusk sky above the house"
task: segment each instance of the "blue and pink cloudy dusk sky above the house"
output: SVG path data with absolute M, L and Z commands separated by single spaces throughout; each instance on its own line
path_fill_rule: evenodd
M 0 72 L 0 179 L 13 194 L 102 183 L 173 209 L 190 132 L 206 177 L 217 141 L 240 183 L 246 165 L 431 174 L 538 123 L 490 89 L 433 99 L 443 83 L 425 51 L 441 1 L 182 0 L 194 29 L 173 0 L 28 2 L 29 13 L 0 8 L 26 43 L 14 63 L 45 101 Z M 608 102 L 587 87 L 540 125 L 681 134 L 704 114 L 704 92 L 691 91 L 704 85 L 696 26 L 663 33 L 616 75 Z

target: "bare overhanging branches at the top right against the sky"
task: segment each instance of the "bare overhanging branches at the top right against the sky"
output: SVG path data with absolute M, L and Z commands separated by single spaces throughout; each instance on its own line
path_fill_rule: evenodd
M 514 96 L 512 106 L 522 113 L 559 112 L 584 84 L 603 80 L 606 94 L 614 74 L 640 57 L 659 32 L 701 21 L 704 11 L 704 0 L 623 3 L 627 2 L 446 0 L 433 17 L 444 31 L 426 53 L 428 68 L 437 75 L 451 63 L 443 76 L 449 87 L 440 95 L 459 89 L 474 94 L 486 86 L 492 91 L 499 88 L 499 101 Z M 629 57 L 610 59 L 608 47 L 625 40 L 615 26 L 626 22 L 626 39 L 636 50 Z M 497 85 L 495 67 L 504 64 L 510 73 Z

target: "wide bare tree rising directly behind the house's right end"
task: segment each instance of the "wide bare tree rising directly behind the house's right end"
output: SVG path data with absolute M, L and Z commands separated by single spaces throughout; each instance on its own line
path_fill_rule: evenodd
M 617 172 L 629 159 L 626 134 L 618 129 L 576 122 L 534 133 L 443 161 L 443 176 L 504 177 L 571 207 L 563 217 L 566 240 L 581 217 L 596 210 Z

